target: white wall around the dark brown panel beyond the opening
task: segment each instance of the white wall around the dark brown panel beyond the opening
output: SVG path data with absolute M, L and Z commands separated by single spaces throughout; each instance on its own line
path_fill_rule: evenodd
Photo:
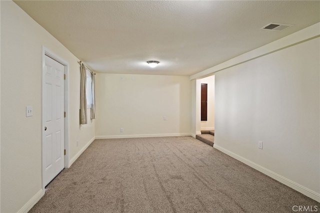
M 214 129 L 214 75 L 196 80 L 198 97 L 201 97 L 201 83 L 207 84 L 207 120 L 201 120 L 201 117 L 198 117 L 198 119 L 200 119 L 201 130 L 211 130 Z M 201 99 L 197 104 L 201 114 Z

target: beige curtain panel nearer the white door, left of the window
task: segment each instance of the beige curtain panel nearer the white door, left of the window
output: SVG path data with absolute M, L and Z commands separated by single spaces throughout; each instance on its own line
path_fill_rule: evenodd
M 80 124 L 86 124 L 86 68 L 80 67 Z

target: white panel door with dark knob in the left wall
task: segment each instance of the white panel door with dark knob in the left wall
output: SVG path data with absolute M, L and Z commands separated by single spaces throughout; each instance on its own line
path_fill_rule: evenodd
M 43 84 L 43 182 L 47 185 L 64 168 L 64 66 L 45 55 Z

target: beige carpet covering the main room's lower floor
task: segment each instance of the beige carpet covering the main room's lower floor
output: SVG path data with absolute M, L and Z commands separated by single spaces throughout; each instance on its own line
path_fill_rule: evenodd
M 293 205 L 320 203 L 185 136 L 94 140 L 29 212 L 293 212 Z

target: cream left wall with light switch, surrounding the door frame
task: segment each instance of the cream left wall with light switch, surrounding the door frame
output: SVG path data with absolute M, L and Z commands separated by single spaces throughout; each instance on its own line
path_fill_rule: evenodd
M 79 126 L 77 58 L 12 1 L 1 4 L 1 212 L 28 210 L 42 195 L 42 45 L 69 63 L 70 156 L 94 138 Z M 25 106 L 33 116 L 25 117 Z M 79 146 L 76 146 L 79 140 Z

